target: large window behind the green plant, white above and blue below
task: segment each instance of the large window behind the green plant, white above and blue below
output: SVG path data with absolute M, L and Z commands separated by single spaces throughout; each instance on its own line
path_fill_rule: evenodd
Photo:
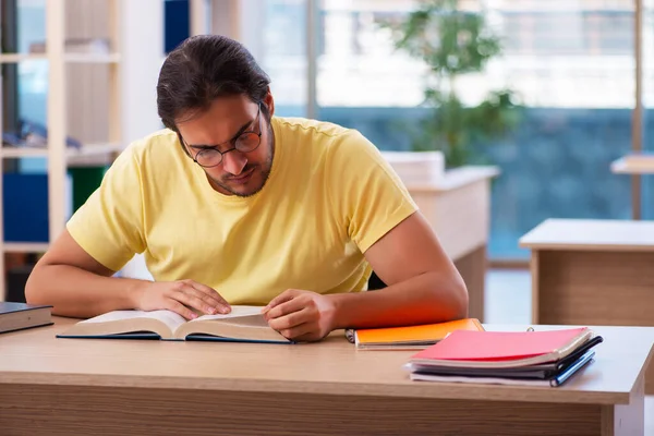
M 631 147 L 634 105 L 634 3 L 631 0 L 467 1 L 502 38 L 504 53 L 458 85 L 473 104 L 510 85 L 521 123 L 501 141 L 475 146 L 477 162 L 497 165 L 489 255 L 526 259 L 518 239 L 550 217 L 629 218 L 630 181 L 610 161 Z M 318 38 L 319 118 L 359 129 L 382 149 L 407 149 L 415 125 L 424 65 L 395 51 L 380 20 L 412 1 L 323 0 Z

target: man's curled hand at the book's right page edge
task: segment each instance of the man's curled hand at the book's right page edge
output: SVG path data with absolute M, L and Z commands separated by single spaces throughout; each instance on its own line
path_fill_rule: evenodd
M 263 313 L 268 325 L 283 337 L 298 341 L 317 341 L 334 328 L 334 300 L 316 292 L 289 289 L 277 295 Z

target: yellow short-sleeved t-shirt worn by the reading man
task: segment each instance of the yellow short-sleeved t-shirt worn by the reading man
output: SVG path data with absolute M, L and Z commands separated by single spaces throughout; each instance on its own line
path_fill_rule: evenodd
M 119 270 L 144 253 L 157 281 L 192 279 L 230 304 L 287 289 L 365 290 L 363 253 L 416 210 L 359 132 L 274 117 L 275 157 L 253 196 L 216 192 L 169 130 L 131 144 L 68 222 L 96 261 Z

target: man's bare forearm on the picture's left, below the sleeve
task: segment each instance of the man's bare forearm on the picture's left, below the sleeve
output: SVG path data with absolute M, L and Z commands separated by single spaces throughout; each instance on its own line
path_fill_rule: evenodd
M 133 295 L 144 280 L 104 277 L 69 265 L 37 266 L 25 287 L 32 304 L 53 305 L 61 316 L 90 317 L 134 308 Z

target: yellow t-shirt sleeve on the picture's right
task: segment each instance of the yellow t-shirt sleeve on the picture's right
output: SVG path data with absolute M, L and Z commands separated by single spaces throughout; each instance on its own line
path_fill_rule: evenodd
M 365 253 L 393 227 L 417 210 L 407 187 L 379 150 L 362 134 L 335 138 L 328 168 L 338 218 Z

